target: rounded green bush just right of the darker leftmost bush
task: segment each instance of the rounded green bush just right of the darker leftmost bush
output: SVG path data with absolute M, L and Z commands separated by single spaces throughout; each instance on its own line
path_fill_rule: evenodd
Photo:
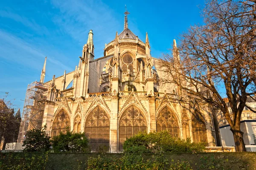
M 89 141 L 84 133 L 72 133 L 68 128 L 52 139 L 54 152 L 84 153 L 89 152 Z

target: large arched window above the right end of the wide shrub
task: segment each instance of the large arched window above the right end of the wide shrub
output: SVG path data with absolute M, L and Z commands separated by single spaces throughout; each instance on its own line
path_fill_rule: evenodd
M 162 130 L 167 130 L 173 137 L 180 137 L 177 118 L 167 106 L 157 116 L 157 131 Z

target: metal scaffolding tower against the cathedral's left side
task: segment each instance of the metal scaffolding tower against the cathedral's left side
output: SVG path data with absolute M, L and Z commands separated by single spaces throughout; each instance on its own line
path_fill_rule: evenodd
M 49 85 L 37 81 L 28 85 L 17 143 L 23 143 L 27 130 L 42 127 L 44 103 L 47 100 L 48 88 Z

